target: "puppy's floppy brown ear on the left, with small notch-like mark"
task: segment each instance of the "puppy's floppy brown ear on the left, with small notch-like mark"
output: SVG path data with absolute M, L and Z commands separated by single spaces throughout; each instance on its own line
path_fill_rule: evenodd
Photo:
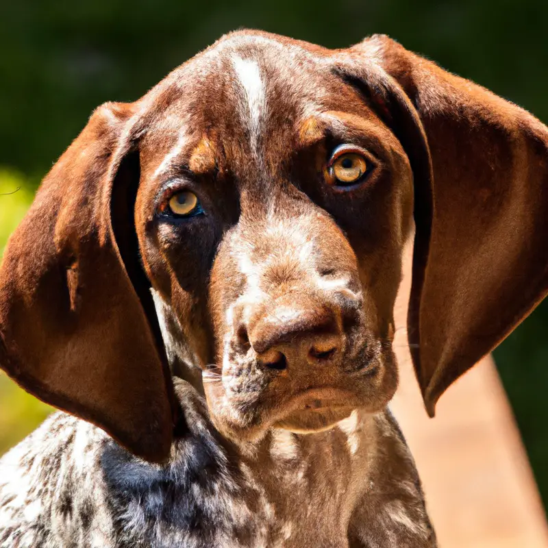
M 139 264 L 136 103 L 108 103 L 53 166 L 0 269 L 0 366 L 25 390 L 160 462 L 171 375 Z

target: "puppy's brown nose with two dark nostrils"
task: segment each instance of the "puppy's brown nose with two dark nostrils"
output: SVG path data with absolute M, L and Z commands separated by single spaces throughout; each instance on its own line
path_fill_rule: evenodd
M 336 310 L 307 297 L 288 296 L 271 310 L 252 314 L 242 331 L 264 366 L 286 369 L 336 359 L 343 345 L 340 323 Z

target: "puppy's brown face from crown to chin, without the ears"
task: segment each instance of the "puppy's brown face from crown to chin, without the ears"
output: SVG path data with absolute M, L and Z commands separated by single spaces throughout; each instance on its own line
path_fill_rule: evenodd
M 325 429 L 397 386 L 412 173 L 366 97 L 321 64 L 221 42 L 166 86 L 140 143 L 136 227 L 164 338 L 203 370 L 227 435 Z

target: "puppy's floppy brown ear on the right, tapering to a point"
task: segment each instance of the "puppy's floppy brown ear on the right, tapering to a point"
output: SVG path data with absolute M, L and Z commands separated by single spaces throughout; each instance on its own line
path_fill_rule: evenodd
M 414 172 L 408 336 L 433 416 L 547 295 L 548 128 L 386 36 L 349 53 L 370 67 L 369 93 Z

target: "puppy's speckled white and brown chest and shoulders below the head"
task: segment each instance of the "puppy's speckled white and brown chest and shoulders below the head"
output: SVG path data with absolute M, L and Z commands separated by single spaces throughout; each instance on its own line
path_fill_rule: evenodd
M 0 548 L 346 548 L 349 531 L 370 535 L 375 526 L 390 533 L 383 545 L 401 548 L 408 544 L 398 539 L 427 534 L 422 504 L 407 514 L 408 495 L 402 506 L 401 493 L 391 502 L 375 494 L 386 493 L 379 458 L 393 453 L 379 444 L 399 444 L 378 428 L 389 427 L 384 415 L 356 414 L 319 434 L 275 430 L 236 447 L 212 427 L 203 402 L 187 403 L 188 432 L 162 466 L 84 421 L 48 419 L 0 462 Z M 403 479 L 421 503 L 412 470 Z M 368 507 L 373 521 L 359 510 Z

